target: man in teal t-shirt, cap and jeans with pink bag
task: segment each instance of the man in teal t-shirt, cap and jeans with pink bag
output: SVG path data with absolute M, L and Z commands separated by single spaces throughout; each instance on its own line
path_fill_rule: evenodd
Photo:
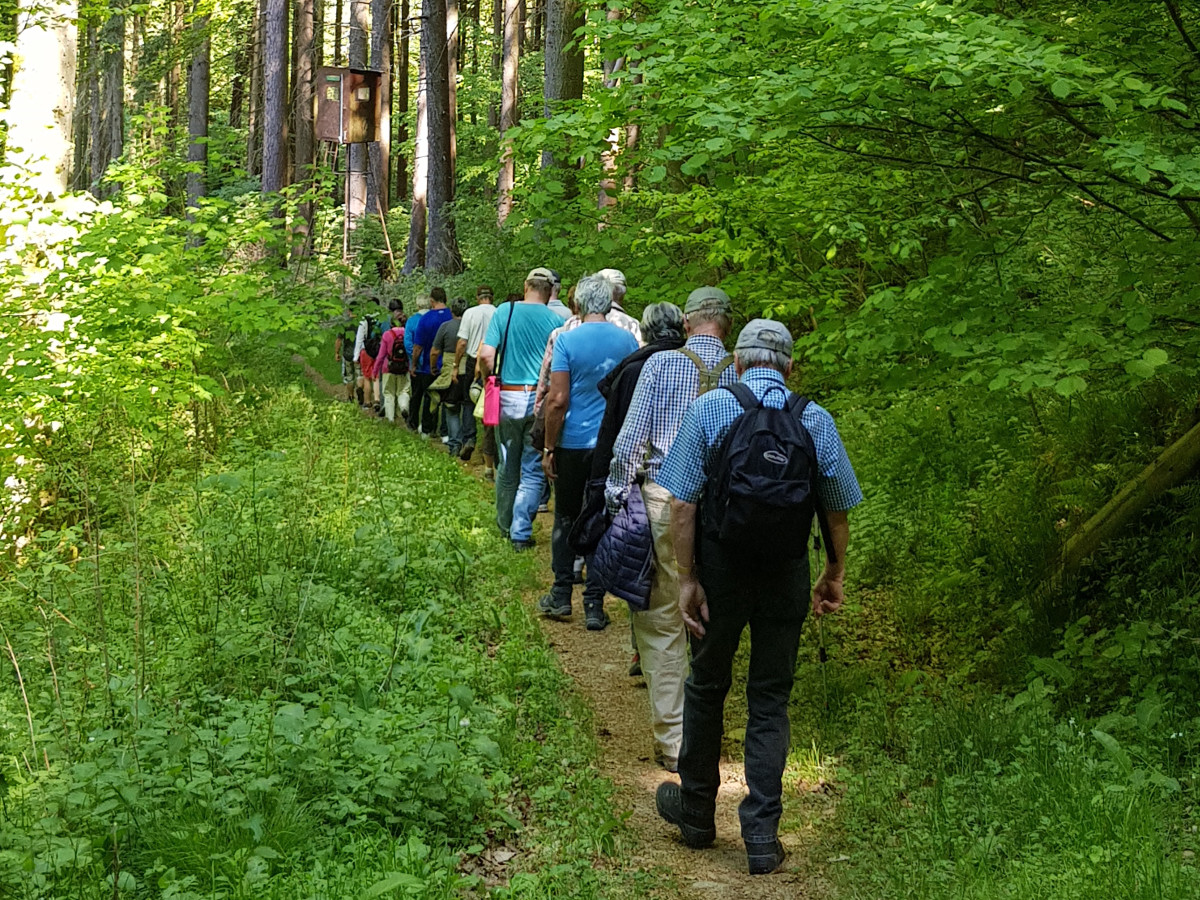
M 553 284 L 548 269 L 526 277 L 524 298 L 497 307 L 479 348 L 480 373 L 500 383 L 500 424 L 496 428 L 496 523 L 517 551 L 533 547 L 533 520 L 546 476 L 533 448 L 533 404 L 538 370 L 550 332 L 563 324 L 546 308 Z

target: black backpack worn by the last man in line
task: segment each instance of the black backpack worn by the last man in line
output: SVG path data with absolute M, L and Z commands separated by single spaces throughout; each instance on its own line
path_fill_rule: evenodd
M 808 553 L 816 515 L 832 556 L 829 526 L 816 491 L 816 446 L 800 424 L 809 400 L 793 394 L 782 409 L 774 409 L 744 384 L 722 390 L 737 397 L 743 412 L 721 442 L 701 500 L 704 536 L 726 552 L 794 560 Z

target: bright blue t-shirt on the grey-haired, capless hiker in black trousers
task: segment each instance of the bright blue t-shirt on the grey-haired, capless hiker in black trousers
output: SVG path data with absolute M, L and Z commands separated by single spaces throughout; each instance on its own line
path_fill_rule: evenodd
M 584 322 L 558 336 L 550 371 L 571 377 L 571 396 L 558 446 L 590 450 L 596 445 L 605 408 L 600 379 L 636 349 L 636 337 L 607 322 Z

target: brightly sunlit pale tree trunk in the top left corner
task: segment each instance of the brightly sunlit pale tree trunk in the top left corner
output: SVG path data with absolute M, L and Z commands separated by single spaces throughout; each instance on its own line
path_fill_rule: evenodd
M 8 160 L 25 166 L 43 194 L 62 193 L 71 174 L 77 14 L 74 0 L 23 1 L 18 12 Z

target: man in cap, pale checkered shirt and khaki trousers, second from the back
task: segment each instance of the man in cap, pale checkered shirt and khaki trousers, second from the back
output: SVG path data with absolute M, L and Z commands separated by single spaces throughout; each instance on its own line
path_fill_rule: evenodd
M 612 448 L 605 500 L 616 512 L 642 470 L 642 496 L 654 535 L 650 606 L 635 612 L 634 638 L 650 695 L 654 755 L 674 772 L 683 742 L 683 683 L 688 676 L 688 635 L 679 616 L 679 574 L 671 544 L 671 494 L 658 484 L 684 413 L 704 391 L 736 380 L 733 358 L 722 341 L 731 328 L 731 302 L 720 288 L 696 288 L 684 305 L 688 341 L 646 360 L 629 412 Z

